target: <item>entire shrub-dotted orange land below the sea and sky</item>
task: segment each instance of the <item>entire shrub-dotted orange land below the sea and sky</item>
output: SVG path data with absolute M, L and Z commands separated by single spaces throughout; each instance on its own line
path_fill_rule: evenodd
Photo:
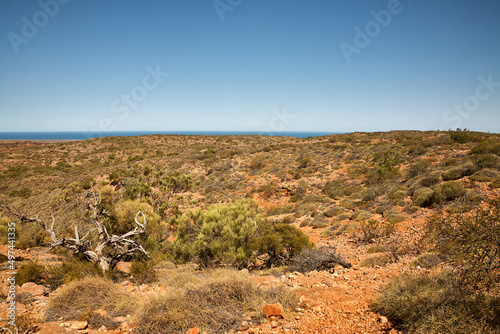
M 500 333 L 500 135 L 3 141 L 0 158 L 5 333 L 12 315 L 18 333 Z

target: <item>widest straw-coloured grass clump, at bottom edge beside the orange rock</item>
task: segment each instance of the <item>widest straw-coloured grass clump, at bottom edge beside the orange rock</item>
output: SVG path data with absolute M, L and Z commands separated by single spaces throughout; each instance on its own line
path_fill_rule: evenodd
M 236 271 L 183 269 L 170 282 L 179 287 L 181 278 L 191 284 L 145 302 L 137 315 L 138 333 L 186 333 L 195 326 L 208 333 L 224 333 L 236 327 L 243 314 L 261 319 L 266 303 L 281 303 L 285 309 L 297 303 L 285 287 L 257 287 Z

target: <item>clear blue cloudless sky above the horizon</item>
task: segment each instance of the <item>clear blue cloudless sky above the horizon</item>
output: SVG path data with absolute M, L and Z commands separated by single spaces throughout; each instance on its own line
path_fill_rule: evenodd
M 0 131 L 500 132 L 497 0 L 0 2 Z

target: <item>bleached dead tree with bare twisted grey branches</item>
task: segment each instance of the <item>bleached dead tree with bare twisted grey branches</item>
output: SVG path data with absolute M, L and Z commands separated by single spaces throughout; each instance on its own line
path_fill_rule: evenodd
M 86 221 L 90 228 L 82 235 L 78 231 L 78 225 L 74 226 L 74 237 L 57 237 L 54 231 L 56 219 L 52 216 L 52 222 L 41 219 L 38 215 L 29 216 L 20 213 L 17 209 L 7 204 L 4 198 L 2 207 L 11 215 L 19 219 L 22 223 L 36 223 L 43 228 L 50 236 L 51 243 L 46 252 L 63 247 L 70 249 L 74 254 L 83 254 L 90 262 L 96 263 L 103 271 L 112 270 L 116 264 L 124 257 L 143 253 L 149 257 L 148 252 L 133 238 L 146 232 L 148 224 L 144 211 L 139 211 L 135 215 L 135 227 L 122 235 L 115 235 L 108 232 L 106 228 L 107 215 L 101 207 L 100 194 L 85 190 L 84 202 L 88 212 Z M 142 216 L 142 223 L 139 222 L 139 215 Z

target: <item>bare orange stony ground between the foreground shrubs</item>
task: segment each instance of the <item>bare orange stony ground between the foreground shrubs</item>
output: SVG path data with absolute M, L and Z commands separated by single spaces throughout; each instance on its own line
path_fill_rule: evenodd
M 335 246 L 342 250 L 346 259 L 353 263 L 350 269 L 338 267 L 333 273 L 327 271 L 312 271 L 309 273 L 289 272 L 281 276 L 249 273 L 251 281 L 262 285 L 285 284 L 294 288 L 299 296 L 299 307 L 292 314 L 270 316 L 263 323 L 252 323 L 252 319 L 241 319 L 238 330 L 233 333 L 399 333 L 384 316 L 370 311 L 379 289 L 390 279 L 404 271 L 421 270 L 410 268 L 409 260 L 403 259 L 398 263 L 383 267 L 359 267 L 359 262 L 367 256 L 364 247 L 359 247 L 353 240 L 345 235 L 335 238 L 335 241 L 317 238 L 321 230 L 305 229 L 311 239 L 316 239 L 317 246 Z M 365 247 L 366 248 L 366 247 Z M 6 254 L 6 247 L 1 248 L 1 253 Z M 36 253 L 30 250 L 21 251 L 19 256 L 30 258 Z M 43 262 L 53 262 L 56 257 L 43 254 Z M 2 273 L 2 278 L 8 276 Z M 150 296 L 164 293 L 161 285 L 134 286 L 128 281 L 120 287 L 134 295 Z M 55 292 L 52 293 L 56 293 Z M 17 287 L 16 293 L 30 296 L 29 299 L 17 303 L 17 317 L 21 319 L 29 314 L 31 317 L 41 319 L 50 297 L 49 289 L 34 283 L 25 283 Z M 7 302 L 0 304 L 2 312 L 1 325 L 6 325 Z M 101 310 L 101 312 L 105 312 Z M 133 333 L 134 323 L 131 318 L 118 317 L 114 319 L 121 323 L 118 328 L 107 329 L 102 327 L 89 329 L 88 324 L 82 321 L 58 321 L 41 323 L 34 328 L 36 333 Z M 196 333 L 196 328 L 192 333 Z

